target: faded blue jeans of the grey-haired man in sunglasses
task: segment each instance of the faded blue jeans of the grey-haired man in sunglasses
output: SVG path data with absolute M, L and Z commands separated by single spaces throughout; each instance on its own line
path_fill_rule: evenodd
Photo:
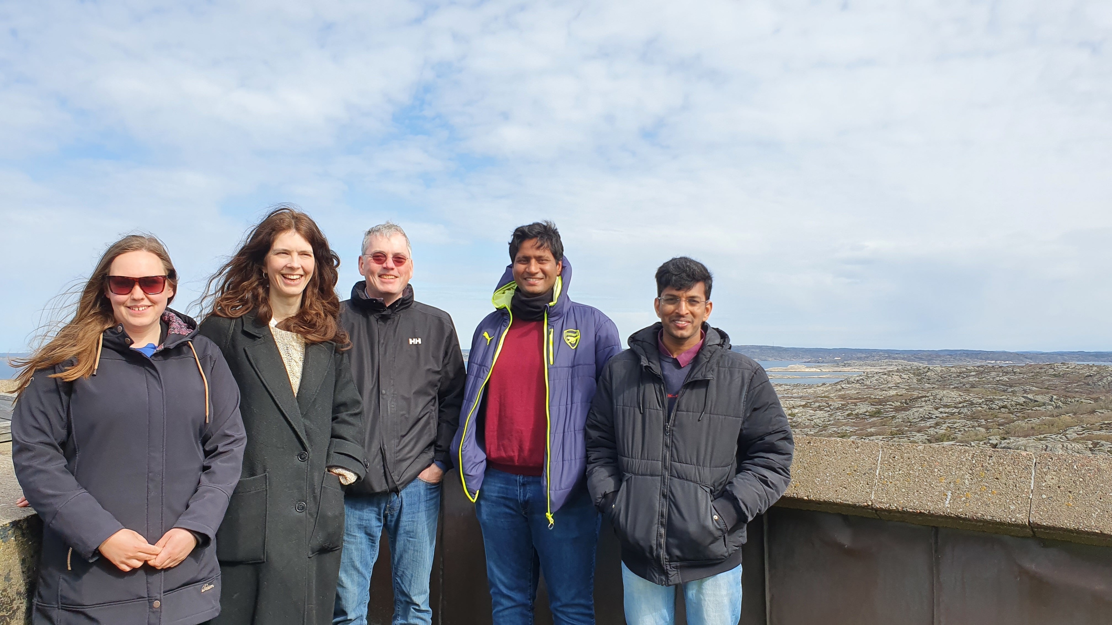
M 394 625 L 433 623 L 428 605 L 440 485 L 415 479 L 400 493 L 344 497 L 344 553 L 332 623 L 367 625 L 370 574 L 383 527 L 390 540 Z

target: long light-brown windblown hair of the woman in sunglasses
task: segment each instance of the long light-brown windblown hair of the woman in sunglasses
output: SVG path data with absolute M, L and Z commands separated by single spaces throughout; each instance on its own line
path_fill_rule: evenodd
M 41 347 L 34 350 L 27 358 L 14 358 L 12 364 L 20 367 L 18 380 L 19 393 L 22 393 L 31 381 L 34 371 L 48 367 L 61 365 L 68 360 L 73 364 L 67 366 L 64 370 L 51 374 L 50 377 L 61 378 L 66 381 L 73 381 L 78 378 L 89 377 L 97 367 L 97 347 L 100 335 L 108 328 L 116 325 L 116 316 L 112 314 L 112 302 L 108 299 L 107 281 L 108 271 L 112 268 L 112 261 L 118 256 L 129 251 L 149 251 L 162 261 L 166 268 L 167 282 L 173 287 L 173 295 L 178 294 L 178 272 L 170 262 L 170 255 L 166 251 L 166 246 L 152 235 L 129 235 L 115 244 L 108 246 L 105 254 L 97 262 L 97 268 L 89 276 L 81 296 L 77 302 L 77 311 L 73 318 L 67 321 L 60 329 L 52 331 L 46 329 L 38 343 Z M 73 292 L 73 291 L 70 291 Z M 66 294 L 62 294 L 63 297 Z M 171 296 L 167 304 L 173 300 Z

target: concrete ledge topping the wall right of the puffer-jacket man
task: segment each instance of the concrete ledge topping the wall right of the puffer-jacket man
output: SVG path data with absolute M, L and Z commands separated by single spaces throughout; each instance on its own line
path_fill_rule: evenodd
M 1112 545 L 1112 458 L 821 437 L 795 450 L 777 506 Z

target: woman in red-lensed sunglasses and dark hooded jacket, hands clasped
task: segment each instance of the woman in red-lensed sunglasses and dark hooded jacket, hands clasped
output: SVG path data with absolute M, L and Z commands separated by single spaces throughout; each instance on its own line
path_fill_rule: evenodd
M 34 623 L 196 625 L 220 611 L 212 540 L 239 479 L 239 389 L 197 323 L 167 308 L 177 288 L 158 239 L 125 237 L 21 363 L 12 460 L 43 524 Z

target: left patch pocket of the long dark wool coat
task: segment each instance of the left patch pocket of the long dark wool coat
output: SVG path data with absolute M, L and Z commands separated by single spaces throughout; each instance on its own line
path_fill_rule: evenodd
M 236 485 L 224 523 L 216 533 L 220 562 L 258 564 L 267 560 L 267 474 Z

